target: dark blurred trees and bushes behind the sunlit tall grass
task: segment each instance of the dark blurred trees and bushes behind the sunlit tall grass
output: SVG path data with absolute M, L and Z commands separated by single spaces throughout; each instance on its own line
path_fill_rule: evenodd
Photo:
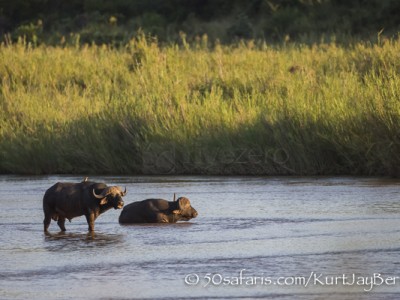
M 127 43 L 138 29 L 162 42 L 207 34 L 210 41 L 240 38 L 281 42 L 395 35 L 398 0 L 0 0 L 0 35 L 59 44 Z

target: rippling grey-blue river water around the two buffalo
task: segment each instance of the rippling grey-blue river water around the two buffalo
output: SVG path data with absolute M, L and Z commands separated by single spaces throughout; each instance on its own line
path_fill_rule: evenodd
M 125 203 L 186 196 L 199 216 L 43 233 L 42 197 L 81 177 L 0 176 L 1 299 L 398 299 L 400 181 L 354 177 L 91 177 Z

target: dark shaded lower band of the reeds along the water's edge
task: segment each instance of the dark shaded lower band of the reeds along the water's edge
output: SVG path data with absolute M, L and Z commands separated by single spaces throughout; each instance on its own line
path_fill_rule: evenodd
M 0 141 L 0 172 L 20 174 L 400 175 L 400 134 L 375 117 L 327 122 L 260 117 L 182 138 L 145 119 L 98 115 Z M 193 131 L 194 132 L 194 131 Z

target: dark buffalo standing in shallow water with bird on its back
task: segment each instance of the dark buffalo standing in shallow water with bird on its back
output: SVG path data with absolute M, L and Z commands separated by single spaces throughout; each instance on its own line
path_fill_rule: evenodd
M 89 231 L 94 231 L 96 218 L 109 210 L 124 206 L 122 197 L 125 191 L 118 186 L 107 186 L 84 179 L 81 183 L 58 182 L 49 188 L 43 197 L 44 231 L 49 228 L 51 219 L 57 221 L 65 231 L 65 219 L 85 216 Z

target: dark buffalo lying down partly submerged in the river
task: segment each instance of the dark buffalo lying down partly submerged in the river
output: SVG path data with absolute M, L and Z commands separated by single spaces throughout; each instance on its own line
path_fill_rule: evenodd
M 197 217 L 197 211 L 188 198 L 177 201 L 147 199 L 133 202 L 124 207 L 119 216 L 120 223 L 176 223 Z

